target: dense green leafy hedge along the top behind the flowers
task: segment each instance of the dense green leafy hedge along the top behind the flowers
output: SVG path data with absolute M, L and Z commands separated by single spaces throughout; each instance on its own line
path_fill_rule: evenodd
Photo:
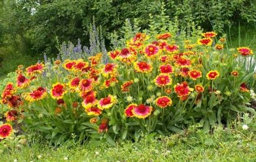
M 31 12 L 35 9 L 35 12 Z M 32 53 L 57 53 L 60 42 L 76 42 L 81 38 L 88 44 L 88 28 L 93 16 L 96 26 L 102 26 L 104 36 L 123 26 L 124 19 L 137 18 L 145 28 L 149 14 L 157 21 L 165 11 L 168 19 L 178 17 L 181 29 L 189 29 L 192 22 L 206 29 L 222 32 L 233 23 L 256 22 L 256 2 L 251 0 L 44 0 L 0 2 L 0 46 L 5 40 L 15 41 L 19 35 Z

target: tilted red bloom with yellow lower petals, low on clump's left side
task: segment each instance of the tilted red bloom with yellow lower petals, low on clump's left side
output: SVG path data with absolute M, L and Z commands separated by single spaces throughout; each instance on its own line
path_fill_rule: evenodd
M 25 99 L 29 102 L 44 99 L 45 96 L 47 96 L 47 92 L 46 89 L 43 87 L 38 87 L 37 90 L 33 90 L 30 93 L 25 93 Z

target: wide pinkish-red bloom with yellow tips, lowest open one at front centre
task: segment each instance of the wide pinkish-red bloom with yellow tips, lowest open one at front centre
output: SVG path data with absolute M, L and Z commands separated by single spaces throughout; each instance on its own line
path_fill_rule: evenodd
M 133 107 L 133 114 L 134 117 L 137 117 L 139 119 L 145 119 L 146 117 L 150 116 L 152 112 L 151 106 L 146 106 L 145 104 L 140 104 L 139 106 Z

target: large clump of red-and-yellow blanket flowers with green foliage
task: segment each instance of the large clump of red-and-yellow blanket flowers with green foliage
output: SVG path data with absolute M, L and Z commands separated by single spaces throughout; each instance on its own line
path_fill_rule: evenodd
M 54 144 L 106 140 L 114 145 L 117 139 L 167 135 L 195 123 L 208 132 L 253 112 L 247 82 L 255 73 L 238 66 L 253 56 L 250 48 L 228 50 L 215 32 L 193 28 L 186 34 L 175 23 L 162 24 L 150 23 L 145 33 L 127 25 L 126 41 L 116 39 L 108 63 L 103 50 L 94 56 L 79 51 L 83 59 L 19 66 L 17 82 L 6 86 L 2 103 L 24 116 L 25 132 Z

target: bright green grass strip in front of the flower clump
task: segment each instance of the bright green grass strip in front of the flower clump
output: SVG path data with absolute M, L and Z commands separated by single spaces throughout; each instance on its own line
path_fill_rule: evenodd
M 255 123 L 255 121 L 254 121 Z M 196 126 L 183 134 L 154 138 L 145 136 L 139 141 L 122 141 L 117 146 L 104 143 L 98 147 L 49 147 L 40 144 L 19 146 L 4 151 L 1 161 L 255 161 L 256 127 L 242 130 L 217 127 L 204 134 Z

